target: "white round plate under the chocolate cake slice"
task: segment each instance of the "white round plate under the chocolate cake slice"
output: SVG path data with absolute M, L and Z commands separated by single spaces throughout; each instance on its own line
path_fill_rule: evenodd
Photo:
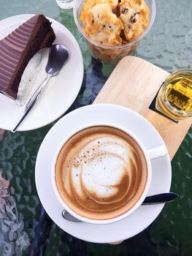
M 0 39 L 7 36 L 32 16 L 17 15 L 1 20 Z M 66 46 L 69 49 L 70 59 L 61 69 L 61 72 L 50 79 L 34 108 L 28 113 L 23 124 L 20 125 L 18 129 L 20 131 L 43 127 L 64 114 L 74 102 L 82 84 L 82 53 L 76 39 L 61 23 L 51 18 L 48 19 L 52 22 L 55 31 L 56 39 L 54 43 Z M 3 94 L 0 94 L 0 102 L 0 128 L 12 129 L 22 111 L 22 107 L 16 105 L 12 99 L 5 97 Z

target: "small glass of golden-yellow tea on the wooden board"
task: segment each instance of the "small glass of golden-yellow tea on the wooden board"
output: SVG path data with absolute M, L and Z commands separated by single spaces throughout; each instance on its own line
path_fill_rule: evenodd
M 177 70 L 166 78 L 155 108 L 175 121 L 192 116 L 192 69 Z

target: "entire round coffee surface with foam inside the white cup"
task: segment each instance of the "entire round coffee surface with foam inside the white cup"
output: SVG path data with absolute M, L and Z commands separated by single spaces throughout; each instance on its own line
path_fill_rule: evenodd
M 147 182 L 147 162 L 126 132 L 107 126 L 82 129 L 61 148 L 55 184 L 69 208 L 87 219 L 106 220 L 131 209 Z

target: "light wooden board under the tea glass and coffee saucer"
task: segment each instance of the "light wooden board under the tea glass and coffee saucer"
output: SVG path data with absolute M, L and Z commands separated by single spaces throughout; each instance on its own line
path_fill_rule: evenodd
M 96 97 L 95 103 L 112 103 L 137 111 L 164 139 L 172 159 L 191 127 L 192 118 L 175 123 L 149 109 L 169 72 L 134 56 L 123 58 Z

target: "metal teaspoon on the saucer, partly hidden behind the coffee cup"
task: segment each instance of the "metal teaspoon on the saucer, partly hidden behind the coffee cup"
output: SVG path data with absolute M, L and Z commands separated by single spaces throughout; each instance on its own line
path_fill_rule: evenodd
M 142 203 L 142 206 L 145 205 L 153 205 L 158 203 L 168 203 L 174 201 L 179 195 L 173 193 L 173 192 L 167 192 L 167 193 L 161 193 L 158 195 L 150 195 L 149 197 L 146 197 L 145 200 Z M 68 211 L 64 210 L 62 211 L 62 216 L 64 219 L 67 219 L 71 222 L 82 222 L 80 219 L 76 219 L 71 214 L 69 214 Z

